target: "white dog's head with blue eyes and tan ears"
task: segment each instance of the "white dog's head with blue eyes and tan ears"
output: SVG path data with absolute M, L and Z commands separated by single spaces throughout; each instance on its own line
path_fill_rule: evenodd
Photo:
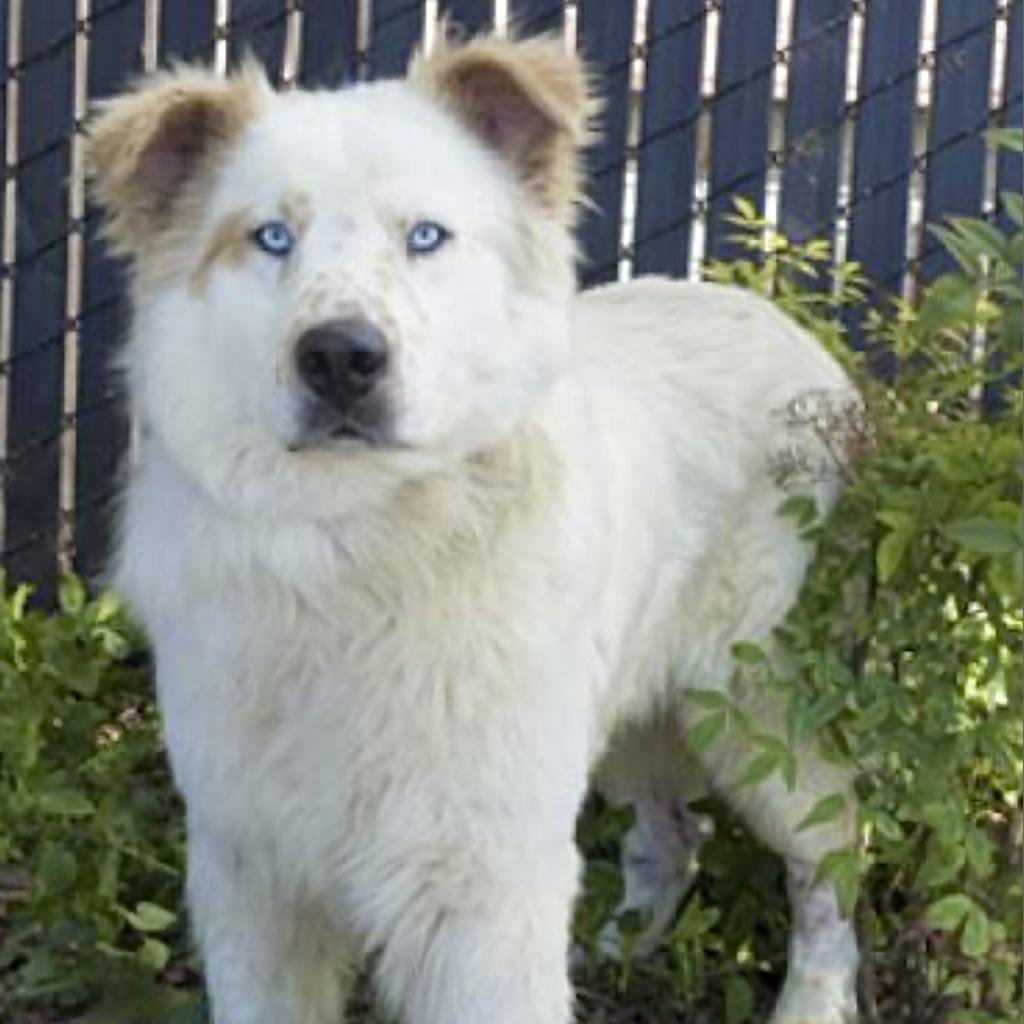
M 568 356 L 588 112 L 560 44 L 496 39 L 339 91 L 181 68 L 110 101 L 89 166 L 146 429 L 269 513 L 494 444 Z

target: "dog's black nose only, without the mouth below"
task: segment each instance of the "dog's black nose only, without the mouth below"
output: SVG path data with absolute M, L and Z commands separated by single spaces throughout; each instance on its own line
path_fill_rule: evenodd
M 367 321 L 328 321 L 295 346 L 299 379 L 316 397 L 347 410 L 380 380 L 387 366 L 384 335 Z

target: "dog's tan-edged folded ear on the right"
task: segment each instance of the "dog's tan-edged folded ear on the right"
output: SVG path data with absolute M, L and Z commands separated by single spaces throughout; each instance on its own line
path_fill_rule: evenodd
M 410 78 L 509 161 L 550 213 L 571 219 L 596 103 L 583 61 L 560 40 L 442 42 L 414 61 Z

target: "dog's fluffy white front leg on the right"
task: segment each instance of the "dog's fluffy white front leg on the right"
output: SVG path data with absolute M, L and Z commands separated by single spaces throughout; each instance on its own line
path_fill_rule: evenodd
M 569 1024 L 569 922 L 579 876 L 571 841 L 545 858 L 424 877 L 378 965 L 380 990 L 403 1024 Z M 468 862 L 466 863 L 468 865 Z M 452 885 L 458 876 L 462 882 Z

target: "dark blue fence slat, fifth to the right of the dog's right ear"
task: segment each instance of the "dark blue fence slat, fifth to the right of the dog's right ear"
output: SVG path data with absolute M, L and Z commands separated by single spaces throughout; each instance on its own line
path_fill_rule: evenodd
M 921 0 L 873 0 L 867 8 L 854 139 L 851 259 L 868 279 L 898 290 L 905 262 Z

